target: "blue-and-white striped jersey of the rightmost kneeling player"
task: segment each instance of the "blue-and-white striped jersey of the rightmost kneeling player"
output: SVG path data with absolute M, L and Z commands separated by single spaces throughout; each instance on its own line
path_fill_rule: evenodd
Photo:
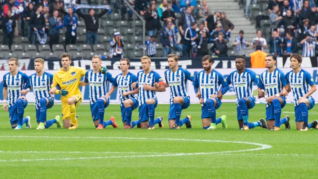
M 294 96 L 294 106 L 298 105 L 298 99 L 303 97 L 309 91 L 309 86 L 315 84 L 314 79 L 306 71 L 301 69 L 300 72 L 294 73 L 290 71 L 286 73 L 286 79 L 290 84 L 291 89 L 293 90 Z M 309 96 L 308 98 L 313 98 Z

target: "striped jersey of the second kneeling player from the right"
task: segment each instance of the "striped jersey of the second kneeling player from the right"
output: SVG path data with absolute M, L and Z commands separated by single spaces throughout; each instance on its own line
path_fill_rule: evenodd
M 260 89 L 265 89 L 267 96 L 273 96 L 277 93 L 280 93 L 283 90 L 283 87 L 287 84 L 289 84 L 289 82 L 286 80 L 284 72 L 278 68 L 275 68 L 272 73 L 269 73 L 266 70 L 260 75 L 257 87 Z M 282 97 L 286 99 L 286 97 Z M 266 101 L 266 107 L 267 106 L 268 103 Z

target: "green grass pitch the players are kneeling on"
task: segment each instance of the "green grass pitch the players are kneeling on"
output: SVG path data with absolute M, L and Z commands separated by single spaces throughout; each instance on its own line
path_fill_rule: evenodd
M 54 105 L 47 118 L 58 115 L 60 108 Z M 309 122 L 318 118 L 317 108 L 309 111 Z M 213 131 L 202 128 L 200 104 L 182 111 L 182 117 L 192 116 L 192 129 L 169 130 L 168 111 L 169 105 L 157 106 L 155 115 L 165 118 L 165 127 L 156 125 L 155 130 L 121 129 L 119 105 L 105 109 L 105 118 L 114 116 L 119 128 L 104 130 L 95 129 L 87 104 L 77 108 L 76 130 L 58 129 L 55 124 L 36 130 L 32 104 L 24 111 L 31 116 L 32 128 L 12 130 L 9 113 L 2 111 L 0 178 L 317 178 L 318 131 L 295 129 L 293 104 L 282 110 L 282 116 L 291 116 L 291 130 L 282 125 L 280 131 L 239 130 L 233 103 L 223 103 L 217 110 L 217 117 L 228 116 L 228 129 L 219 124 Z M 132 117 L 138 118 L 137 110 Z M 264 117 L 265 104 L 249 110 L 249 122 Z M 260 147 L 224 141 L 271 148 L 224 153 Z

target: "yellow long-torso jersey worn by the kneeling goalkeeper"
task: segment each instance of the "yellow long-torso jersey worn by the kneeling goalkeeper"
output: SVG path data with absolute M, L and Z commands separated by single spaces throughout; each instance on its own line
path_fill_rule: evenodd
M 68 71 L 59 69 L 54 73 L 51 87 L 59 85 L 61 89 L 68 90 L 68 95 L 61 96 L 61 101 L 67 101 L 67 99 L 73 95 L 81 94 L 79 90 L 79 82 L 82 76 L 85 76 L 86 70 L 80 67 L 70 66 Z

